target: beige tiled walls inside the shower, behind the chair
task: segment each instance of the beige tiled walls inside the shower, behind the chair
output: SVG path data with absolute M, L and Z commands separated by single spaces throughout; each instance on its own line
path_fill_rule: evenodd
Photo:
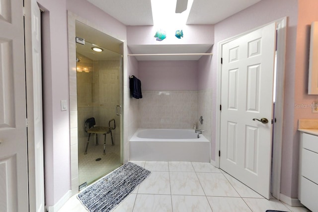
M 112 104 L 110 99 L 118 100 L 119 89 L 118 83 L 112 87 L 115 92 L 102 91 L 99 85 L 100 71 L 115 70 L 118 72 L 119 61 L 92 61 L 80 54 L 80 62 L 77 63 L 79 69 L 87 69 L 87 72 L 77 72 L 77 88 L 78 88 L 78 145 L 79 153 L 84 152 L 84 147 L 88 138 L 88 134 L 84 132 L 84 122 L 90 117 L 94 117 L 96 126 L 108 126 L 108 120 L 115 119 L 117 128 L 113 132 L 113 139 L 115 144 L 120 143 L 120 128 L 119 118 L 116 116 L 115 105 L 119 104 L 117 101 Z M 117 70 L 117 71 L 116 71 Z M 110 78 L 110 77 L 108 77 Z M 117 76 L 116 76 L 116 79 Z M 114 87 L 115 86 L 115 87 Z M 116 87 L 117 86 L 117 87 Z M 106 93 L 107 92 L 107 93 Z M 112 123 L 111 123 L 112 125 Z M 103 136 L 99 136 L 98 142 L 103 142 Z M 106 135 L 108 144 L 111 143 L 110 135 Z M 90 140 L 90 145 L 95 145 L 95 138 Z

